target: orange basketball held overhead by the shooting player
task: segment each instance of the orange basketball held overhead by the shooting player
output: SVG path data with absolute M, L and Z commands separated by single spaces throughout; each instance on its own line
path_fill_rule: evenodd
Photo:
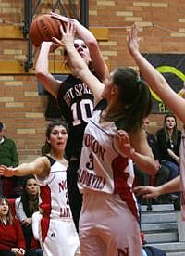
M 60 39 L 59 24 L 60 21 L 52 18 L 50 14 L 33 19 L 29 31 L 32 44 L 39 46 L 43 41 L 52 41 L 52 37 Z

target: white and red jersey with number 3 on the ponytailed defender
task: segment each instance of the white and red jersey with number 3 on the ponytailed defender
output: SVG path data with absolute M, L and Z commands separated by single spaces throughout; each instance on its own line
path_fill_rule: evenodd
M 99 122 L 100 113 L 100 110 L 93 112 L 85 129 L 78 178 L 80 192 L 93 190 L 119 194 L 137 216 L 131 190 L 134 179 L 132 160 L 119 152 L 115 122 Z

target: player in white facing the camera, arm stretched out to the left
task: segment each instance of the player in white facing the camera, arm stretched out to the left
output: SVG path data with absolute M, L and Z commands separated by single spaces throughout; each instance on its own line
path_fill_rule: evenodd
M 39 240 L 44 256 L 77 255 L 80 242 L 68 204 L 68 161 L 64 151 L 68 133 L 63 122 L 50 122 L 46 130 L 43 155 L 17 168 L 1 167 L 6 176 L 34 174 L 41 189 Z

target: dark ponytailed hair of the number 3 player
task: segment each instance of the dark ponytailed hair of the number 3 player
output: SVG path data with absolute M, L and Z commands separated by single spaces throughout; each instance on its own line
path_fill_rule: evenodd
M 127 132 L 142 127 L 142 120 L 150 114 L 152 97 L 146 83 L 140 80 L 136 70 L 118 68 L 113 74 L 113 83 L 118 88 L 118 101 L 125 106 L 119 118 L 118 129 Z

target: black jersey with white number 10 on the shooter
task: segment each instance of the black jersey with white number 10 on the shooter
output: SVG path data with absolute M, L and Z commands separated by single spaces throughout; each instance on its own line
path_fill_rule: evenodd
M 80 79 L 69 75 L 61 84 L 57 101 L 68 123 L 68 160 L 71 156 L 80 158 L 84 129 L 93 113 L 93 94 Z

